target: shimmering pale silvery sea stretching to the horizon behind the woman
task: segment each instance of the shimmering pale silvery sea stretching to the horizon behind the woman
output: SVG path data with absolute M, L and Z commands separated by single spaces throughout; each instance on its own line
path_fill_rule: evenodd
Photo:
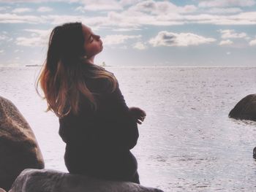
M 1 67 L 0 96 L 29 122 L 45 168 L 67 172 L 59 121 L 35 90 L 40 66 Z M 129 107 L 146 111 L 132 153 L 142 185 L 163 191 L 256 191 L 256 123 L 228 113 L 256 93 L 255 67 L 121 67 Z

